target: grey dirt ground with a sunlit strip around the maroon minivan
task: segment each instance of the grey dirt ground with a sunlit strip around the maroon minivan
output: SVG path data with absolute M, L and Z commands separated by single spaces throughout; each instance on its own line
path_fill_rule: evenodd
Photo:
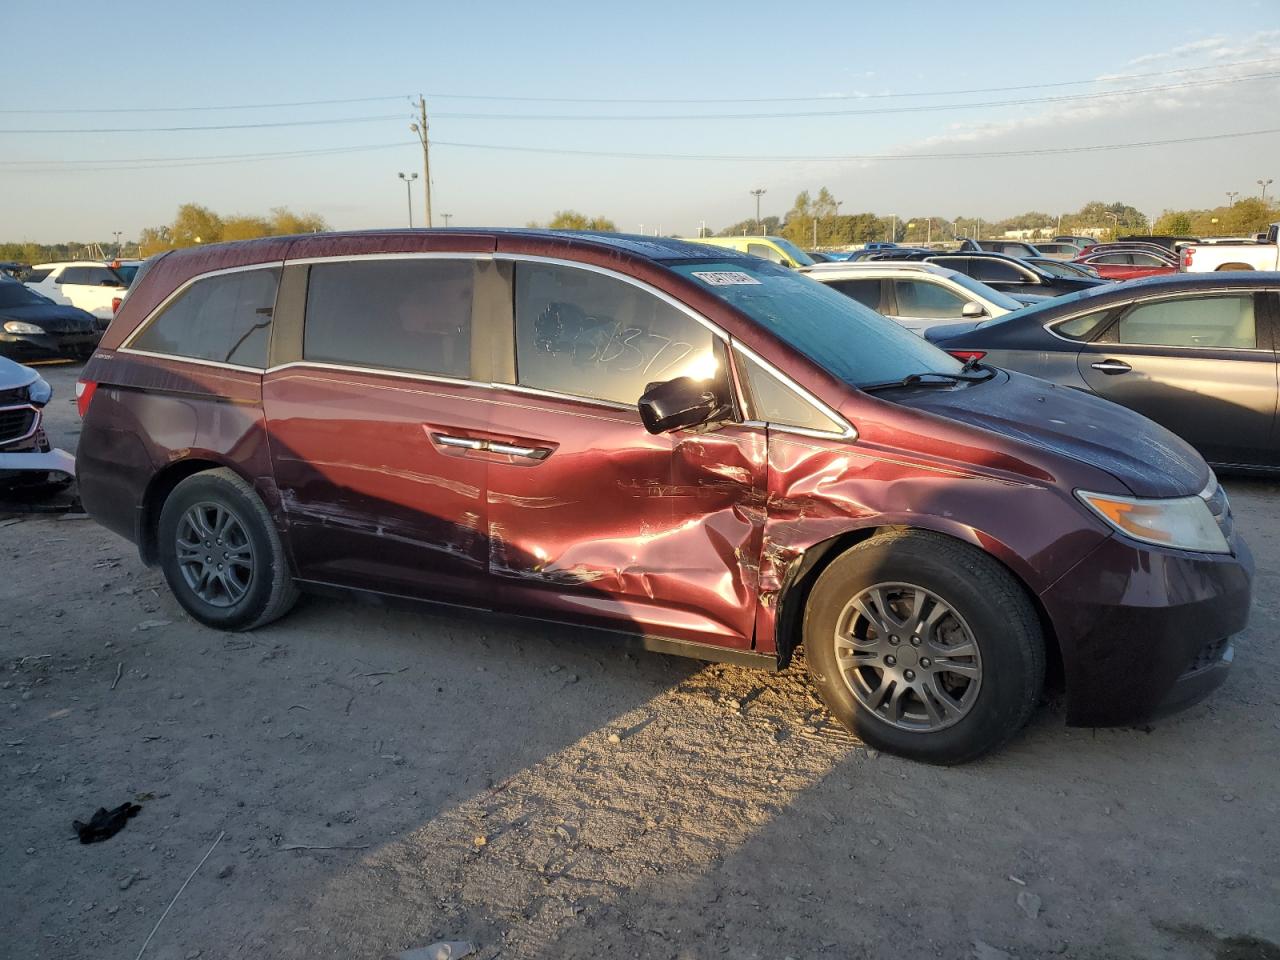
M 212 846 L 143 956 L 1280 957 L 1280 486 L 1228 489 L 1226 686 L 1142 728 L 1044 705 L 955 769 L 797 669 L 320 598 L 210 631 L 91 521 L 0 508 L 0 956 L 137 956 Z

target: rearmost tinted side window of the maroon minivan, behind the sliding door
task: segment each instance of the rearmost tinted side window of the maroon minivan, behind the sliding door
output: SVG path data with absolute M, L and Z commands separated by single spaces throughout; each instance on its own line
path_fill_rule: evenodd
M 148 353 L 265 367 L 279 282 L 275 268 L 196 280 L 129 346 Z

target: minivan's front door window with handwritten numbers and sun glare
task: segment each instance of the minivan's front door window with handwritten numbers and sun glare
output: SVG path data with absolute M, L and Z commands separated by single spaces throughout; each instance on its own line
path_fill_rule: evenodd
M 707 326 L 635 284 L 517 264 L 516 376 L 521 387 L 631 406 L 652 383 L 723 376 L 723 353 Z

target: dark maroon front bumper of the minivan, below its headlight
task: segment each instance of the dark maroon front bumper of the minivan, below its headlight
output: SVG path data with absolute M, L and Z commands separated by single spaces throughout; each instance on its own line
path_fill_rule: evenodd
M 1042 595 L 1062 652 L 1066 721 L 1111 726 L 1188 707 L 1226 678 L 1249 616 L 1253 554 L 1112 536 Z

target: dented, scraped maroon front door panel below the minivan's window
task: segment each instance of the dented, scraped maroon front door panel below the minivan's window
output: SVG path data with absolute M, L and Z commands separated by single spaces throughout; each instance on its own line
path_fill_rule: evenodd
M 497 390 L 489 431 L 494 603 L 749 649 L 764 520 L 763 429 L 648 434 L 620 404 Z

